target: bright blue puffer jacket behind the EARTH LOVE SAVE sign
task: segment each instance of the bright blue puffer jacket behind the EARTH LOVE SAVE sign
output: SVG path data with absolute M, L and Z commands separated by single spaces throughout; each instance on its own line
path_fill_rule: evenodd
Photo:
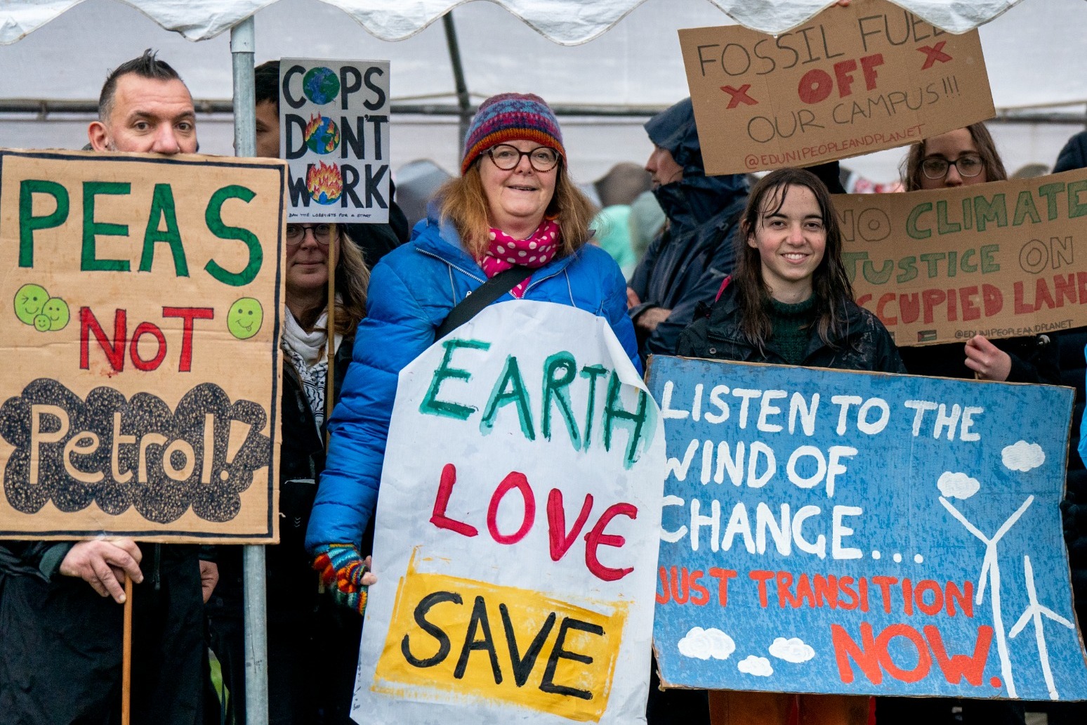
M 450 310 L 487 276 L 465 252 L 451 224 L 420 222 L 415 237 L 389 252 L 370 279 L 367 316 L 329 427 L 333 436 L 305 546 L 355 543 L 374 513 L 397 376 L 434 343 Z M 499 302 L 514 299 L 509 292 Z M 641 372 L 626 316 L 626 283 L 599 247 L 587 245 L 537 270 L 526 300 L 570 304 L 608 321 Z

